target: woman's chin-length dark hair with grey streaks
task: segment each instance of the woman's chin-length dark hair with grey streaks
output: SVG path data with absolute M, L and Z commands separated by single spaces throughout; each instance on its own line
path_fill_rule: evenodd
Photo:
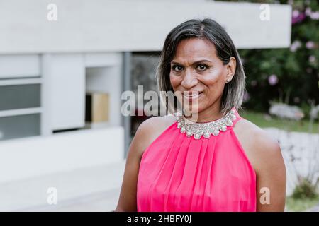
M 171 61 L 174 58 L 179 42 L 193 37 L 204 38 L 213 43 L 216 48 L 216 55 L 223 61 L 224 65 L 228 64 L 230 57 L 235 57 L 235 75 L 229 83 L 225 84 L 221 100 L 221 112 L 228 112 L 232 107 L 240 109 L 245 91 L 245 72 L 242 62 L 228 33 L 221 25 L 210 18 L 187 20 L 169 32 L 157 66 L 156 80 L 158 91 L 174 92 L 169 81 Z M 161 95 L 161 101 L 164 100 L 166 99 Z M 166 101 L 165 105 L 171 113 L 172 110 L 176 110 L 175 103 L 174 109 L 170 109 Z

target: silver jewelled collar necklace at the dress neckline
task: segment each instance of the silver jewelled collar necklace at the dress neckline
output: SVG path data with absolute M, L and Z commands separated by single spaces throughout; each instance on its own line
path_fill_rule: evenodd
M 227 130 L 227 126 L 233 126 L 233 121 L 236 119 L 234 109 L 231 109 L 220 119 L 204 123 L 190 121 L 184 117 L 182 112 L 177 112 L 174 115 L 177 119 L 177 128 L 180 129 L 180 132 L 186 133 L 188 137 L 194 136 L 196 140 L 200 139 L 201 136 L 210 138 L 211 134 L 218 136 L 220 131 L 225 132 Z

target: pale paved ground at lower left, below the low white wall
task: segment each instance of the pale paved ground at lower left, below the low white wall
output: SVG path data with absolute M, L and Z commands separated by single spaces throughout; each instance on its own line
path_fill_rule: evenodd
M 0 211 L 111 211 L 125 162 L 0 184 Z M 57 204 L 49 204 L 55 188 Z M 49 200 L 49 202 L 48 202 Z

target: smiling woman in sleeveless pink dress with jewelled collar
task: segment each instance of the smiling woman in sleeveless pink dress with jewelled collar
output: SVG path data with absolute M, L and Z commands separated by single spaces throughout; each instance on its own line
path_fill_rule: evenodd
M 169 32 L 157 85 L 195 102 L 196 121 L 189 109 L 140 125 L 116 211 L 284 210 L 279 143 L 238 114 L 245 73 L 216 21 L 189 20 Z

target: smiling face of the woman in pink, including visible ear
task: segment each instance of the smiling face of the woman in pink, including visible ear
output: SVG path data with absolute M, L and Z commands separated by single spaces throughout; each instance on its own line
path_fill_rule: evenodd
M 206 39 L 191 38 L 177 45 L 169 79 L 177 100 L 184 100 L 184 109 L 199 114 L 212 106 L 220 109 L 226 80 L 230 81 L 234 73 L 234 57 L 223 65 L 216 56 L 214 44 Z

